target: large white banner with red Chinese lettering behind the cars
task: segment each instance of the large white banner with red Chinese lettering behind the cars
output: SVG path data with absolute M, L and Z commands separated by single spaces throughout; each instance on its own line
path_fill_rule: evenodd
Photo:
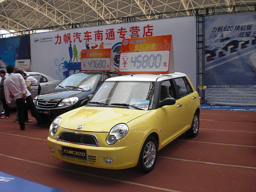
M 31 34 L 31 68 L 32 71 L 63 80 L 83 70 L 81 69 L 82 50 L 111 49 L 114 68 L 118 71 L 123 39 L 169 34 L 172 34 L 176 72 L 186 73 L 196 87 L 195 16 Z

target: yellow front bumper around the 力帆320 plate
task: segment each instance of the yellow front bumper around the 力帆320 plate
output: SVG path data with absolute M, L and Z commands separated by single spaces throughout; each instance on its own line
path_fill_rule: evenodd
M 121 141 L 121 143 L 126 143 L 124 146 L 115 146 L 114 144 L 113 146 L 105 145 L 100 147 L 57 141 L 51 137 L 48 137 L 47 140 L 51 155 L 59 160 L 106 169 L 124 169 L 136 166 L 142 147 L 142 143 L 131 145 L 129 142 L 124 141 L 125 139 Z M 116 144 L 118 145 L 118 143 Z M 86 151 L 86 158 L 67 156 L 62 146 L 66 148 L 72 147 L 72 149 L 77 149 L 77 151 Z M 84 156 L 83 153 L 81 154 Z M 111 160 L 112 163 L 107 163 L 104 161 L 105 159 Z

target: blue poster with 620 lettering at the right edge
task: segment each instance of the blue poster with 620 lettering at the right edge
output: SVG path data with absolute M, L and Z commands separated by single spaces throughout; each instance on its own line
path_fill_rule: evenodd
M 205 17 L 206 104 L 256 105 L 256 13 Z

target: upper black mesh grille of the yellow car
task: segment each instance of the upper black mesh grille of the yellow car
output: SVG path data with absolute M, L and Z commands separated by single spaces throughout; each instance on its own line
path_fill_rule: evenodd
M 96 136 L 92 134 L 63 131 L 59 134 L 57 140 L 82 145 L 99 146 Z

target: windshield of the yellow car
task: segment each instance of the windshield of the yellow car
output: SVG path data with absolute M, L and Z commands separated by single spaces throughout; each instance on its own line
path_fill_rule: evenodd
M 105 81 L 90 103 L 148 110 L 152 108 L 154 90 L 155 82 Z

